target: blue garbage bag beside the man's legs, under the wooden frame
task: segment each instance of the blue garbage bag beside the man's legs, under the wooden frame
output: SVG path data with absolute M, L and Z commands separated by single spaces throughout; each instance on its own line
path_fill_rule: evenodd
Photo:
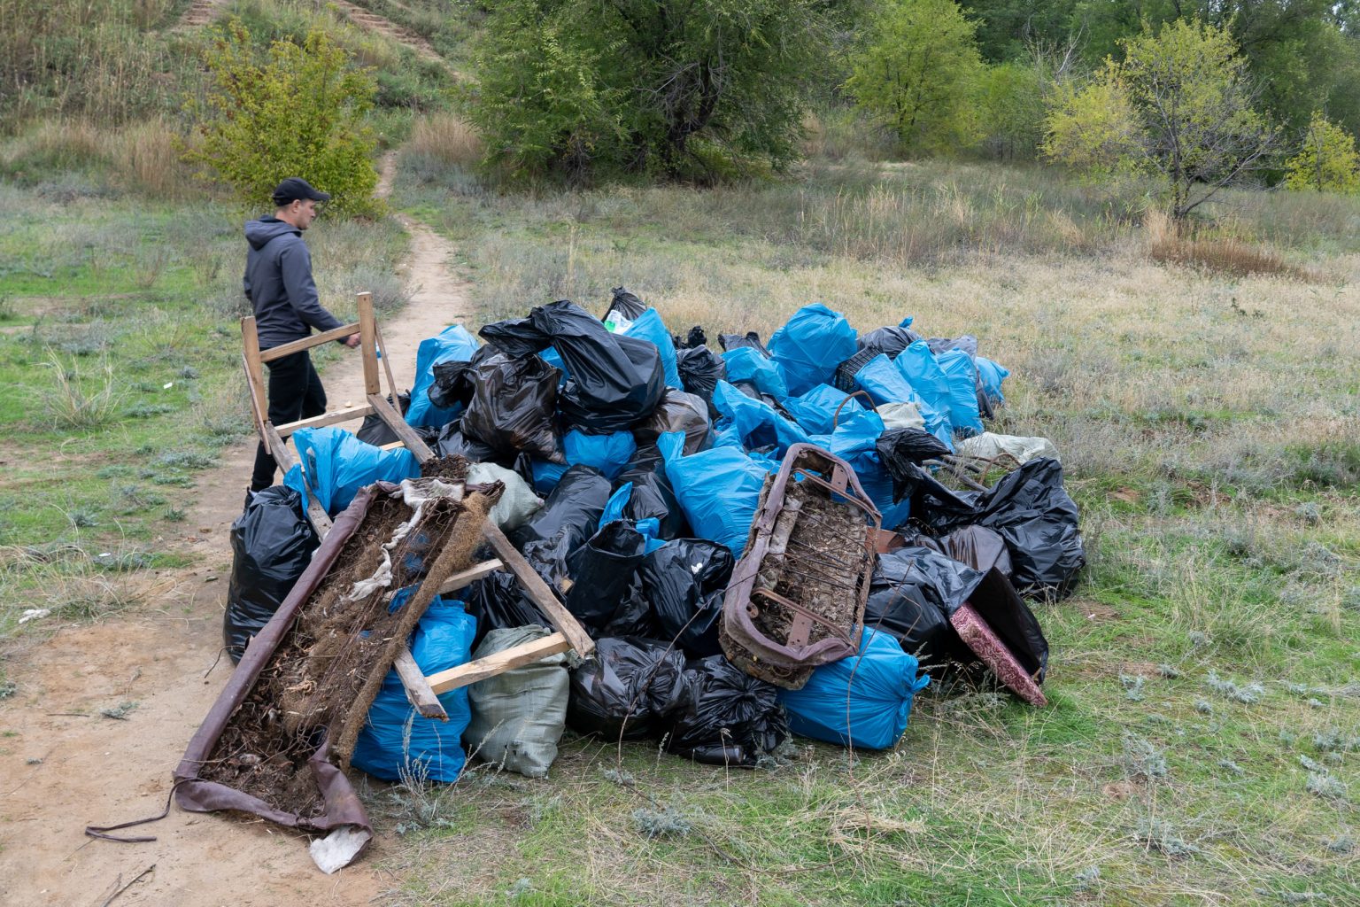
M 292 432 L 292 443 L 302 462 L 292 465 L 283 484 L 302 495 L 303 507 L 307 506 L 307 495 L 314 494 L 321 509 L 332 517 L 348 507 L 364 485 L 397 483 L 420 475 L 420 464 L 405 447 L 374 447 L 335 426 L 298 428 Z

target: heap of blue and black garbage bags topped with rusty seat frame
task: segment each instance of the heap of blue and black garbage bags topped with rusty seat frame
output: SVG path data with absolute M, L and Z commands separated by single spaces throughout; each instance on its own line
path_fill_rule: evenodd
M 911 318 L 858 333 L 819 303 L 768 343 L 713 347 L 623 288 L 602 318 L 559 301 L 477 335 L 422 343 L 393 403 L 441 462 L 466 461 L 469 488 L 499 484 L 488 519 L 596 651 L 443 694 L 447 722 L 412 721 L 393 669 L 354 766 L 454 781 L 475 759 L 544 776 L 566 728 L 715 766 L 764 764 L 790 734 L 885 749 L 922 669 L 1044 703 L 1049 647 L 1025 597 L 1070 587 L 1078 514 L 1047 439 L 986 430 L 1009 373 L 975 337 L 925 337 Z M 377 481 L 422 475 L 389 435 L 294 434 L 301 462 L 233 526 L 233 658 L 317 549 L 307 502 L 336 517 Z M 409 650 L 428 676 L 551 630 L 496 571 L 435 598 Z

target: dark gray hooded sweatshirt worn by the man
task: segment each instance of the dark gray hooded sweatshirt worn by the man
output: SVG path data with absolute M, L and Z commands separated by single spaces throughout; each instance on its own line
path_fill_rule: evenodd
M 311 253 L 302 231 L 277 218 L 246 222 L 246 299 L 254 306 L 260 348 L 302 340 L 341 326 L 321 307 L 311 281 Z

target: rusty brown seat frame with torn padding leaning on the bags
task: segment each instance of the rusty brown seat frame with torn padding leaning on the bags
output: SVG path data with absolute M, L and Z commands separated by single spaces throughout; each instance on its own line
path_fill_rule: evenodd
M 800 689 L 860 649 L 880 517 L 843 460 L 793 445 L 766 483 L 722 601 L 718 642 L 745 673 Z

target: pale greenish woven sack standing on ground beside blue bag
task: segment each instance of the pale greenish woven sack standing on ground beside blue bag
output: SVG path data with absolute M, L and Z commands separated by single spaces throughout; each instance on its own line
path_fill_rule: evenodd
M 486 658 L 549 635 L 547 627 L 514 627 L 487 634 L 473 658 Z M 462 738 L 477 759 L 526 778 L 544 778 L 558 757 L 567 721 L 567 657 L 549 655 L 468 687 L 472 722 Z

